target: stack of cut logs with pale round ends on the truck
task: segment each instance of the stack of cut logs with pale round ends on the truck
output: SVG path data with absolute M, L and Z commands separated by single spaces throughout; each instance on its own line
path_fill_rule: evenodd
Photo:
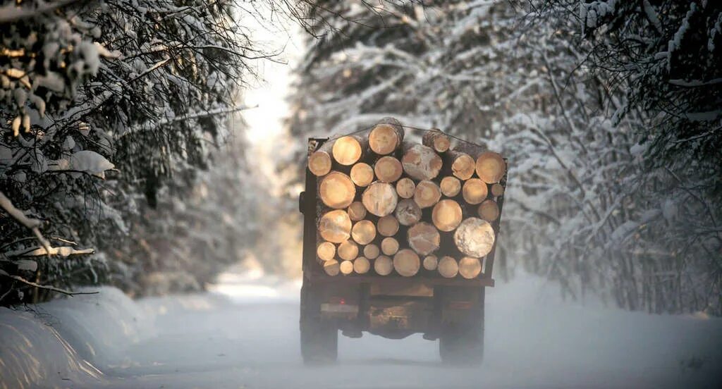
M 329 276 L 483 275 L 506 184 L 500 154 L 438 128 L 409 141 L 385 118 L 326 141 L 308 169 L 318 177 L 316 258 Z

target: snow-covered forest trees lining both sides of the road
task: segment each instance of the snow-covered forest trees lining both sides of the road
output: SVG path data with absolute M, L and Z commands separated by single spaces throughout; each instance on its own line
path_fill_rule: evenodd
M 284 48 L 251 24 L 302 36 L 271 162 L 244 97 Z M 307 139 L 393 116 L 508 158 L 497 278 L 722 315 L 718 1 L 4 0 L 0 26 L 0 305 L 297 277 Z

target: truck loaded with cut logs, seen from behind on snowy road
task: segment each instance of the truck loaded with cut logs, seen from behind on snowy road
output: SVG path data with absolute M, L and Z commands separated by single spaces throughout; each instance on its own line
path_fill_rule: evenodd
M 507 162 L 438 128 L 405 128 L 384 118 L 308 140 L 299 198 L 306 363 L 335 361 L 339 330 L 423 333 L 438 339 L 443 362 L 482 360 Z

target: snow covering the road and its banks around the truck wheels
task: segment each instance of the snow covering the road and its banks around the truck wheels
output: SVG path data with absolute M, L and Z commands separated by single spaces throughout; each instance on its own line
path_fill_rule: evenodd
M 487 289 L 485 362 L 443 367 L 436 342 L 339 338 L 339 363 L 304 367 L 298 281 L 231 272 L 209 292 L 133 302 L 116 289 L 0 310 L 9 387 L 713 388 L 722 320 L 560 299 L 521 274 Z M 45 325 L 50 323 L 52 326 Z M 701 365 L 701 366 L 700 366 Z M 95 368 L 97 367 L 97 370 Z M 26 375 L 17 374 L 19 369 Z M 367 371 L 366 373 L 363 373 Z M 102 373 L 101 373 L 102 372 Z M 12 374 L 16 373 L 16 374 Z M 70 380 L 64 380 L 64 379 Z M 25 381 L 22 381 L 25 380 Z

